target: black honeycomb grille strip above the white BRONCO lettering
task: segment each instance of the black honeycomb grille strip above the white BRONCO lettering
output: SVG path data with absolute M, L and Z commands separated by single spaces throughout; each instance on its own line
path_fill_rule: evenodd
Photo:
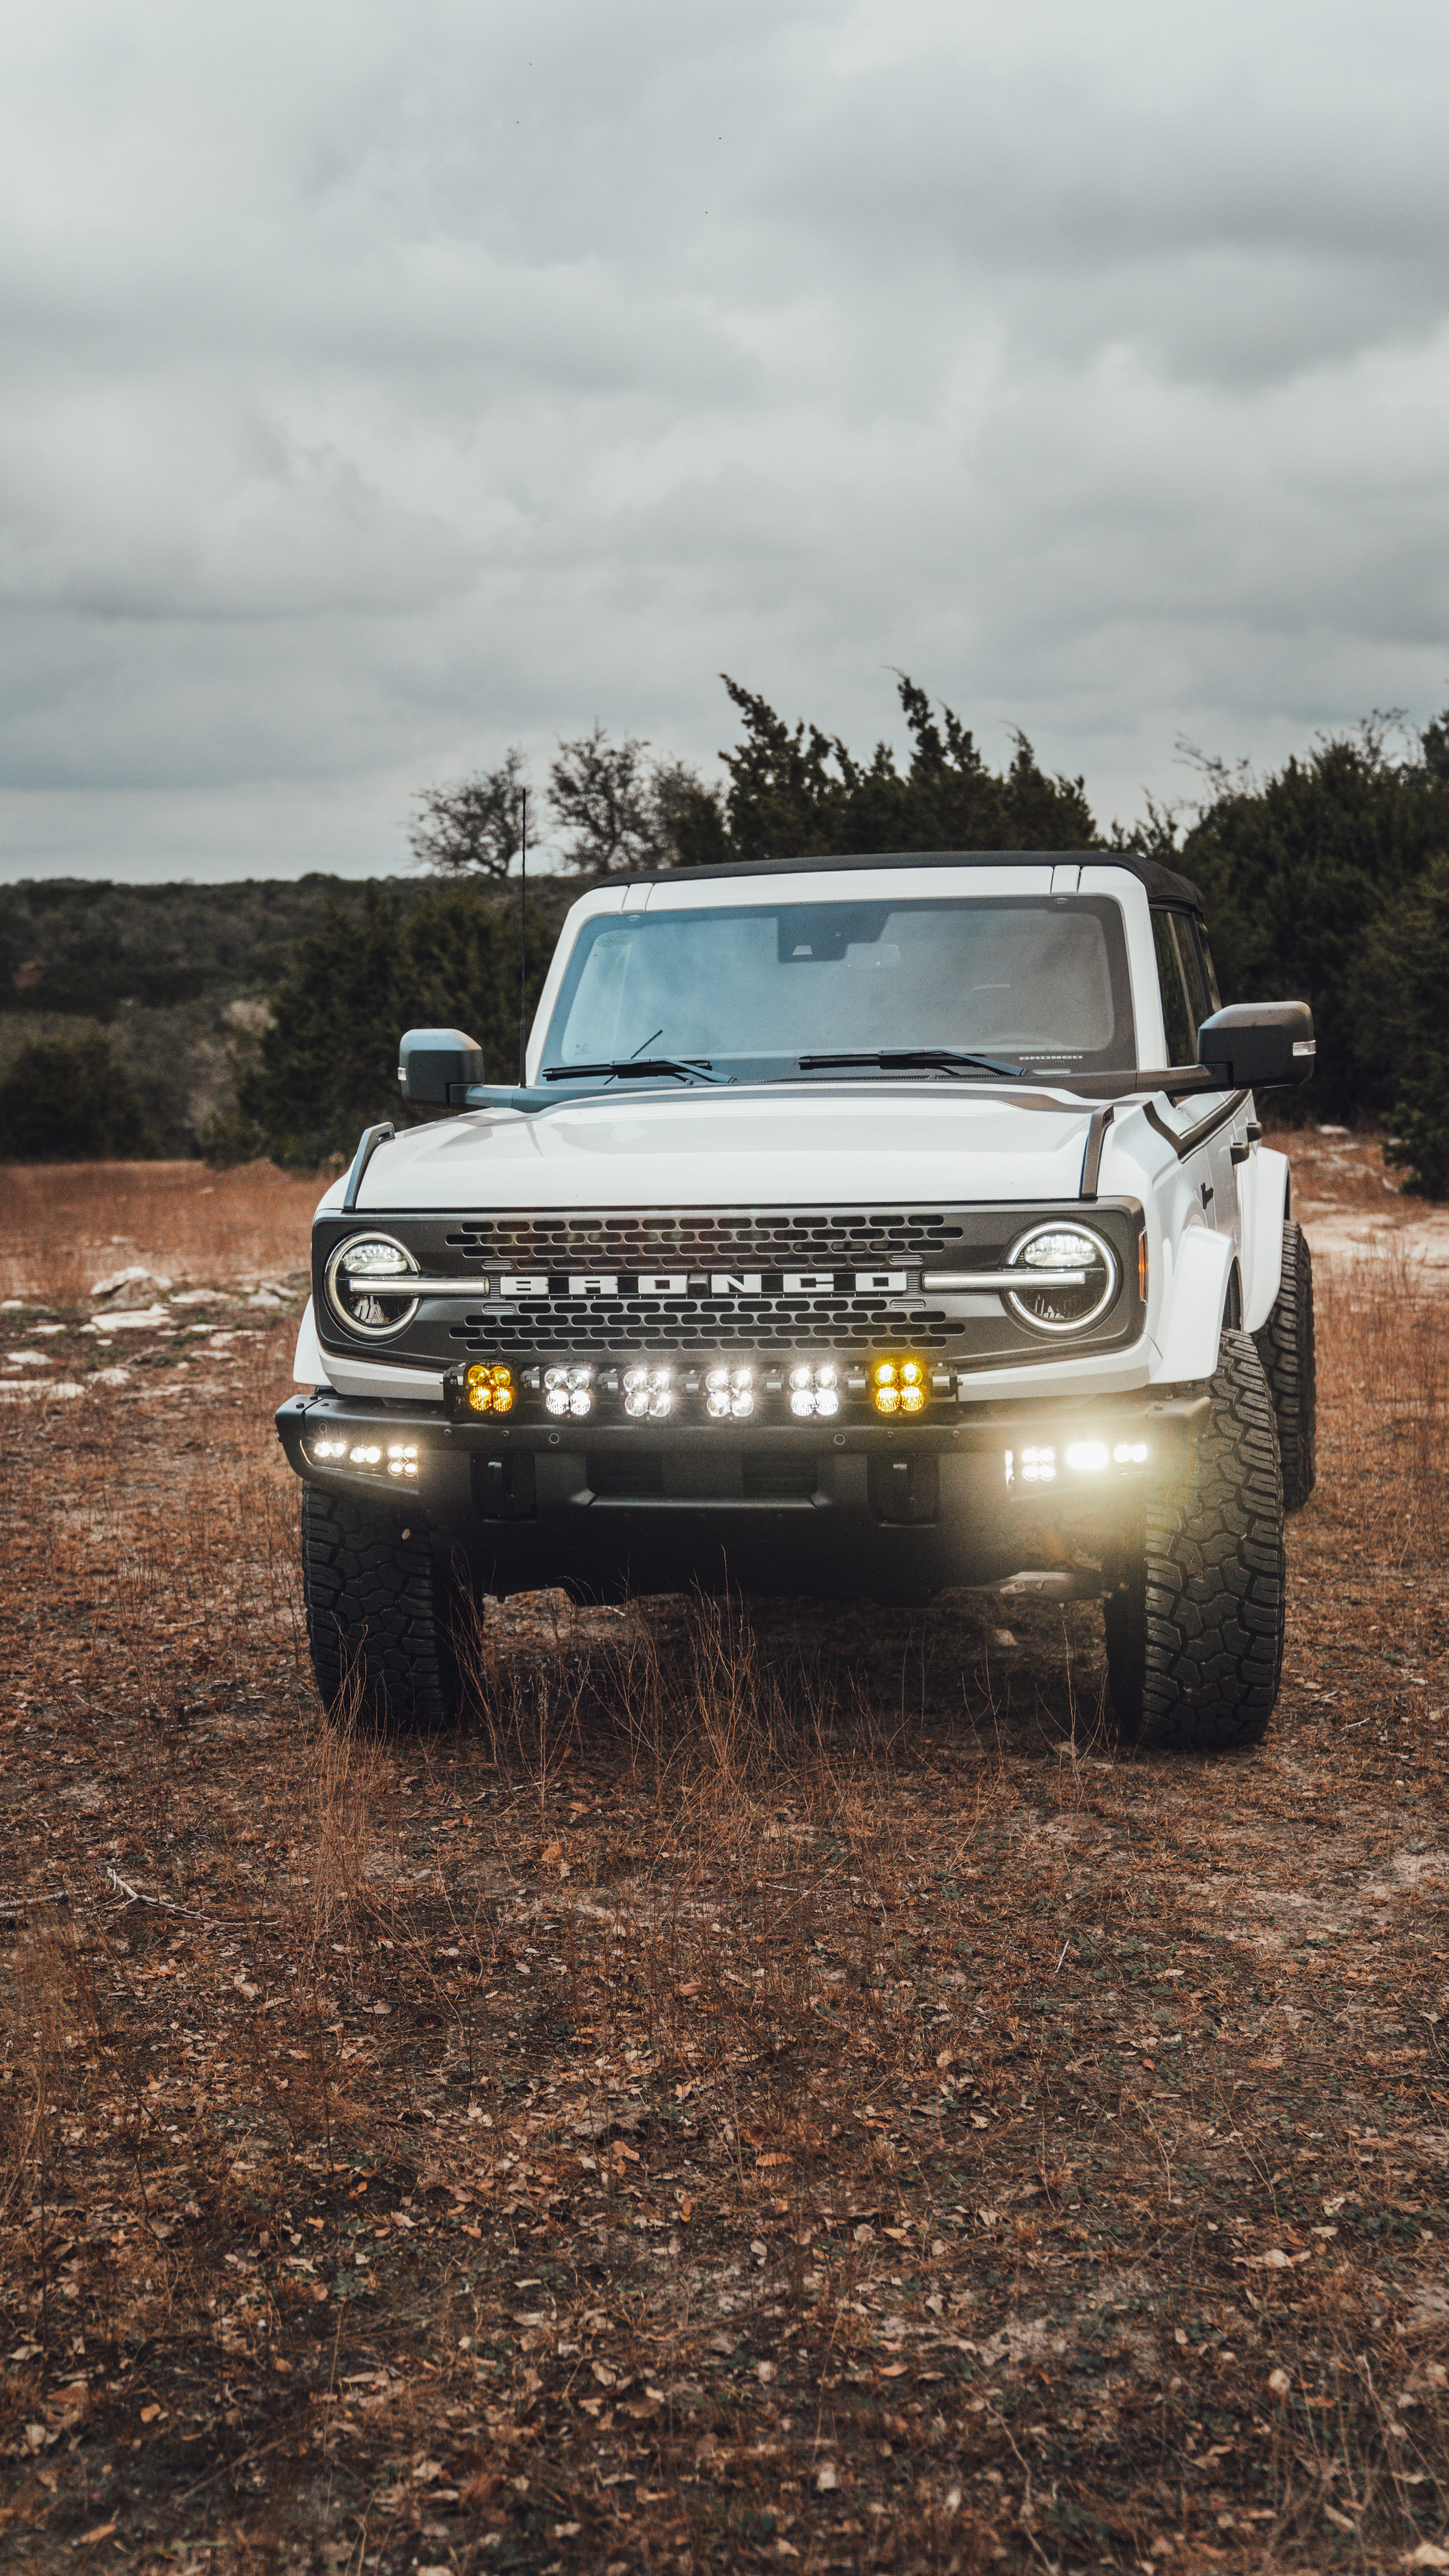
M 799 1216 L 773 1208 L 637 1208 L 601 1216 L 469 1216 L 443 1234 L 469 1262 L 516 1270 L 884 1270 L 933 1262 L 964 1244 L 959 1218 L 928 1208 L 871 1216 L 861 1208 Z

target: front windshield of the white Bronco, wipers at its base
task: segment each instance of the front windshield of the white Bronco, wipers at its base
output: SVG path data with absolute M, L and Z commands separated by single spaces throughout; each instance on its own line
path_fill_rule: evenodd
M 603 914 L 578 935 L 544 1072 L 676 1056 L 748 1082 L 799 1056 L 897 1048 L 1132 1072 L 1119 907 L 1039 894 Z

